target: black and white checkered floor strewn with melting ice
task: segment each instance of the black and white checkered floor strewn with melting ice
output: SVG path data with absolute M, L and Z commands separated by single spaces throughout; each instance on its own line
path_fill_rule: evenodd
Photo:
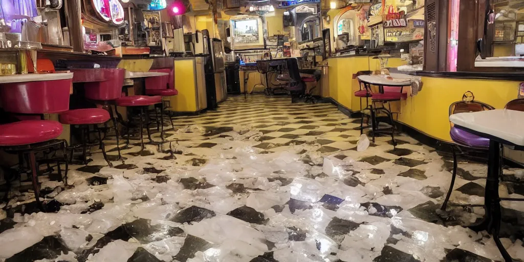
M 15 192 L 0 213 L 5 261 L 500 261 L 493 239 L 464 225 L 484 210 L 486 166 L 452 162 L 408 136 L 356 150 L 359 119 L 331 104 L 231 97 L 174 118 L 162 150 L 136 140 L 125 164 L 100 153 L 72 166 L 67 188 L 43 181 L 50 213 Z M 159 134 L 154 134 L 159 140 Z M 169 148 L 169 145 L 171 148 Z M 107 147 L 114 158 L 116 148 Z M 522 170 L 501 196 L 523 197 Z M 42 179 L 43 180 L 43 179 Z M 51 200 L 52 199 L 52 200 Z M 524 258 L 524 204 L 503 203 L 504 245 Z

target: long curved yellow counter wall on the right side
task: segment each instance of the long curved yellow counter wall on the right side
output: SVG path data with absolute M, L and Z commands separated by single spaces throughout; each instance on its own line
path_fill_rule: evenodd
M 388 67 L 398 67 L 405 62 L 389 59 Z M 351 109 L 360 111 L 360 99 L 354 96 L 359 89 L 353 74 L 364 70 L 380 69 L 380 62 L 373 57 L 330 58 L 329 92 L 333 100 Z M 408 96 L 405 101 L 391 104 L 397 121 L 411 126 L 431 137 L 451 141 L 449 107 L 460 101 L 466 91 L 475 95 L 475 100 L 504 108 L 510 100 L 517 98 L 520 82 L 500 80 L 475 80 L 422 77 L 422 90 L 416 96 Z M 365 103 L 365 101 L 363 101 Z

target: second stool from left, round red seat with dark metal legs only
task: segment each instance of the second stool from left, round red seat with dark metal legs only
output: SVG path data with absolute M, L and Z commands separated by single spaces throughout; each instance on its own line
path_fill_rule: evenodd
M 88 147 L 93 146 L 93 144 L 88 144 L 89 140 L 89 127 L 93 126 L 97 130 L 99 135 L 99 146 L 102 149 L 102 155 L 104 156 L 107 165 L 113 167 L 111 161 L 107 158 L 105 151 L 105 144 L 103 141 L 102 133 L 98 125 L 105 124 L 107 127 L 107 121 L 110 119 L 110 114 L 102 108 L 83 108 L 77 110 L 69 110 L 65 113 L 60 114 L 60 123 L 67 125 L 79 126 L 81 129 L 81 140 L 82 144 L 77 146 L 71 146 L 71 160 L 73 159 L 74 149 L 82 146 L 82 155 L 84 160 L 84 165 L 87 165 L 87 155 L 86 151 Z M 117 145 L 118 146 L 118 145 Z

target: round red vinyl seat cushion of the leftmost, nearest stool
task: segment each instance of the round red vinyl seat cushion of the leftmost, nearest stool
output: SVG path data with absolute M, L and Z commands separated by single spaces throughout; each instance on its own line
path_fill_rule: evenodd
M 62 134 L 62 124 L 51 120 L 29 120 L 0 125 L 0 146 L 40 143 Z

